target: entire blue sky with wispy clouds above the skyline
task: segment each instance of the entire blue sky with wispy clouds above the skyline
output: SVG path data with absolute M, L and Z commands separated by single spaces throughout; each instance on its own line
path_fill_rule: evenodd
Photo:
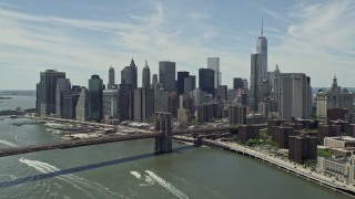
M 139 86 L 145 60 L 197 75 L 221 59 L 222 84 L 250 80 L 250 57 L 264 21 L 268 71 L 306 73 L 314 87 L 355 87 L 353 0 L 0 0 L 0 90 L 34 90 L 40 72 L 67 73 L 88 86 L 92 74 L 120 83 L 133 57 Z

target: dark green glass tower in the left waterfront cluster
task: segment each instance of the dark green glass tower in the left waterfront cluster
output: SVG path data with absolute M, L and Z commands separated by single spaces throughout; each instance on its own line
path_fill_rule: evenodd
M 103 83 L 99 75 L 91 75 L 89 80 L 89 119 L 102 119 L 102 88 Z

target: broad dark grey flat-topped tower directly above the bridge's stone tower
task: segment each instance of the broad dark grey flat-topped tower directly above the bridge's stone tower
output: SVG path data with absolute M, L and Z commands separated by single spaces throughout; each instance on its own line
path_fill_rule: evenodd
M 176 66 L 175 62 L 159 62 L 159 82 L 166 92 L 176 91 Z

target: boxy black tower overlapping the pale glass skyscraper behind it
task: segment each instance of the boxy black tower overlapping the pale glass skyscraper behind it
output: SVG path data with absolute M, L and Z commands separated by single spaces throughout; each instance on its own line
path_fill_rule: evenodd
M 199 69 L 199 87 L 201 91 L 214 95 L 214 74 L 212 69 Z

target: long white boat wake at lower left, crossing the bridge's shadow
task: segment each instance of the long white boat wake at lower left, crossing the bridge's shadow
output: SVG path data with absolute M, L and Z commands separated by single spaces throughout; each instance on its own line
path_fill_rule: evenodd
M 29 167 L 34 168 L 37 171 L 41 174 L 49 174 L 49 172 L 54 172 L 60 170 L 58 167 L 53 165 L 38 161 L 38 160 L 20 158 L 19 161 L 28 165 Z M 111 196 L 112 198 L 116 198 L 116 197 L 125 198 L 124 196 L 110 191 L 106 187 L 100 184 L 87 180 L 84 178 L 81 178 L 72 174 L 57 176 L 55 178 L 79 189 L 89 198 L 94 198 L 93 195 L 98 195 L 98 193 L 100 196 L 106 196 L 106 197 Z

